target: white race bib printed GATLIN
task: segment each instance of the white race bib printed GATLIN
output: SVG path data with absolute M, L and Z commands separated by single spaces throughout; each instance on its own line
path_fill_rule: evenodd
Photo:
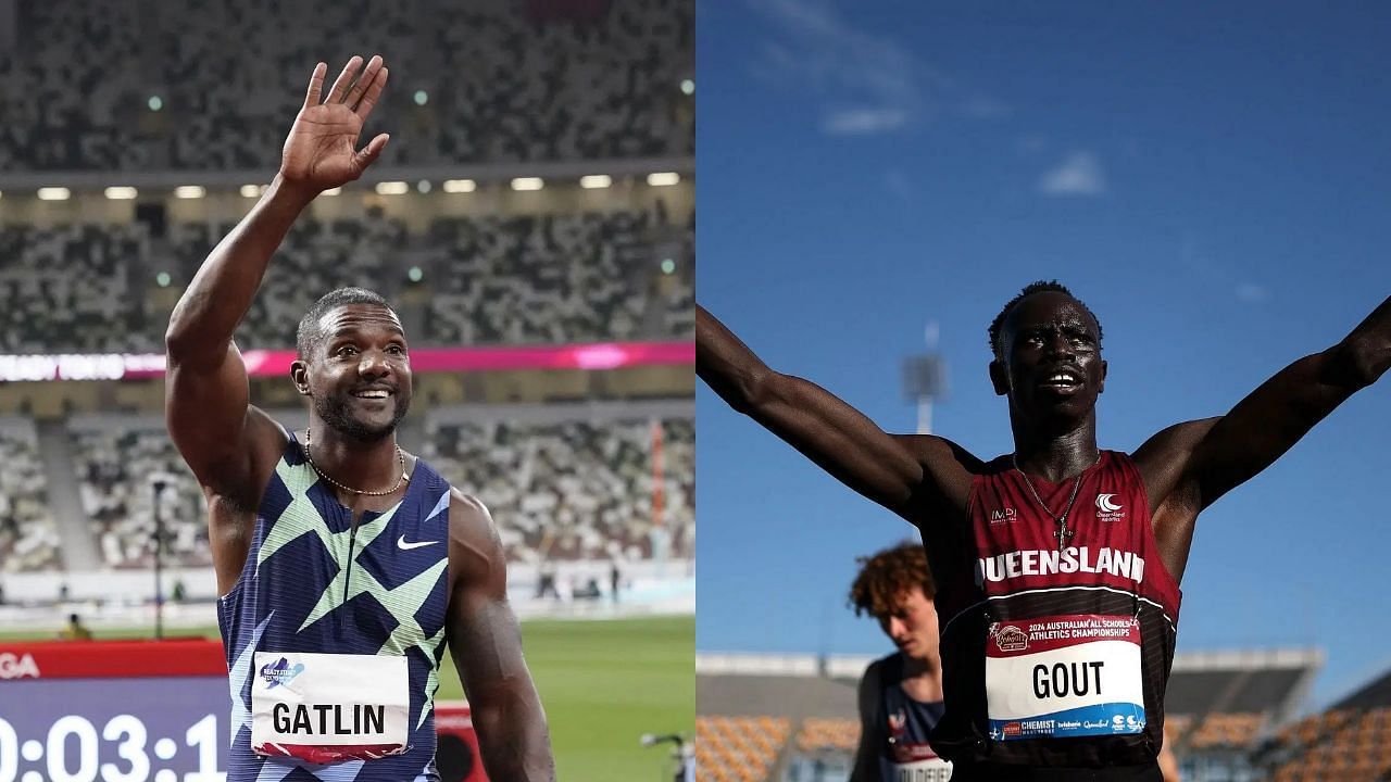
M 257 651 L 255 665 L 255 753 L 335 763 L 406 750 L 405 657 Z

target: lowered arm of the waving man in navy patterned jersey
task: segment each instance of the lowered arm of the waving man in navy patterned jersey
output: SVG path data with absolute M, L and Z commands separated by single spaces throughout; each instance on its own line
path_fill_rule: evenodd
M 554 782 L 551 736 L 508 605 L 498 529 L 481 502 L 452 491 L 445 633 L 469 696 L 483 767 L 494 782 Z

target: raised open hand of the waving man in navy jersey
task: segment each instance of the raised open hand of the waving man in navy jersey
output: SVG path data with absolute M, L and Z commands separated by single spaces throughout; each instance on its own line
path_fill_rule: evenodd
M 380 134 L 357 150 L 362 125 L 387 86 L 381 57 L 373 57 L 359 77 L 360 68 L 362 57 L 348 60 L 320 103 L 328 67 L 323 63 L 314 67 L 305 106 L 285 139 L 280 173 L 287 181 L 316 192 L 337 188 L 360 177 L 385 149 L 388 136 Z

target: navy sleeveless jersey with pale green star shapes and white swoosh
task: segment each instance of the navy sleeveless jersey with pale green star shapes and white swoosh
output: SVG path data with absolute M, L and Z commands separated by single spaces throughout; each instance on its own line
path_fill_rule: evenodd
M 416 462 L 401 502 L 363 513 L 353 532 L 351 511 L 289 436 L 257 509 L 241 579 L 218 601 L 232 697 L 228 782 L 438 782 L 434 693 L 445 647 L 448 532 L 449 484 L 423 461 Z M 266 664 L 277 655 L 287 657 Z M 264 690 L 284 683 L 303 668 L 292 664 L 287 671 L 287 658 L 325 660 L 317 655 L 405 658 L 401 680 L 408 682 L 409 699 L 402 694 L 402 704 L 409 703 L 409 711 L 401 754 L 320 764 L 252 751 L 252 685 L 266 679 Z M 366 662 L 399 669 L 394 660 Z M 342 686 L 345 676 L 337 679 Z M 351 690 L 356 683 L 346 679 Z M 320 708 L 299 714 L 299 725 L 310 732 L 335 721 L 348 725 L 339 733 L 352 731 L 355 719 L 360 725 L 360 710 L 353 717 L 351 708 L 348 715 Z

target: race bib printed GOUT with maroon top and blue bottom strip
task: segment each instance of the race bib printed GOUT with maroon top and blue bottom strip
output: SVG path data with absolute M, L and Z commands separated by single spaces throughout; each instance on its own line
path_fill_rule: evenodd
M 1096 614 L 990 625 L 990 737 L 1116 736 L 1145 731 L 1139 622 Z

